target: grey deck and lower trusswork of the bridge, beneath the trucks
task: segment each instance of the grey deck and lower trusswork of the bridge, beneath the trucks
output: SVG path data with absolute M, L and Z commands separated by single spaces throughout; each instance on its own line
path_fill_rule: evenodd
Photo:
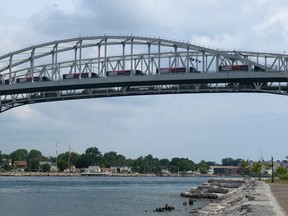
M 278 82 L 271 82 L 270 79 L 227 79 L 211 80 L 209 79 L 176 79 L 174 75 L 168 77 L 168 80 L 157 79 L 155 75 L 145 81 L 139 80 L 119 80 L 114 82 L 96 80 L 71 80 L 70 83 L 59 82 L 58 85 L 35 86 L 28 84 L 19 93 L 21 89 L 7 90 L 7 95 L 1 100 L 0 112 L 11 108 L 42 102 L 101 98 L 101 97 L 119 97 L 119 96 L 140 96 L 140 95 L 160 95 L 160 94 L 195 94 L 195 93 L 271 93 L 287 95 L 287 79 L 278 78 Z M 169 75 L 168 75 L 169 76 Z M 145 77 L 147 79 L 147 77 Z M 88 82 L 89 81 L 89 82 Z M 214 81 L 214 82 L 213 82 Z M 216 82 L 217 81 L 217 82 Z M 105 83 L 105 84 L 103 84 Z M 24 87 L 24 86 L 23 86 Z M 35 91 L 36 90 L 36 91 Z

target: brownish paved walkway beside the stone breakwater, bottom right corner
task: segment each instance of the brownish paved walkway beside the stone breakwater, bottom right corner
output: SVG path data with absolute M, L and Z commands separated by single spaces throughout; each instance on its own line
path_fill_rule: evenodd
M 269 185 L 279 205 L 288 215 L 288 184 L 269 183 Z

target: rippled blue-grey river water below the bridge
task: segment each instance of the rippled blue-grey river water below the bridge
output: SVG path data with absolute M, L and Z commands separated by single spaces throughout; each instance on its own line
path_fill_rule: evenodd
M 193 177 L 0 177 L 1 216 L 191 215 L 207 204 L 184 206 L 180 192 L 208 178 Z M 169 213 L 154 212 L 165 204 Z

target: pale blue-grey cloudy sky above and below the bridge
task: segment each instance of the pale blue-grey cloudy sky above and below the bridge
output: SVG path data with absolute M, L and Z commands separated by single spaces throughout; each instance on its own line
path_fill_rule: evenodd
M 288 51 L 287 0 L 9 0 L 0 4 L 0 55 L 76 36 L 136 34 L 219 49 Z M 189 94 L 49 102 L 0 114 L 0 150 L 45 156 L 98 147 L 221 162 L 283 160 L 288 97 Z

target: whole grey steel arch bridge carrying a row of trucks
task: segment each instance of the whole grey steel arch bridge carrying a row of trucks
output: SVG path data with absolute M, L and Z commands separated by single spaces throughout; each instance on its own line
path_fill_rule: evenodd
M 0 56 L 0 112 L 25 104 L 110 96 L 288 94 L 288 55 L 219 50 L 159 37 L 56 40 Z

